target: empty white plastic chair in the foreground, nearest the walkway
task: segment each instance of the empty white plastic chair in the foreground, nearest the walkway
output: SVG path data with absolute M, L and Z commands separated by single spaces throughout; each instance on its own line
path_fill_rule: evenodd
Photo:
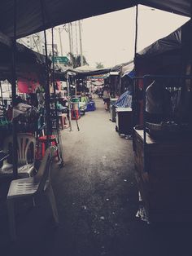
M 51 146 L 50 148 L 46 149 L 45 157 L 43 157 L 41 166 L 35 176 L 25 179 L 15 179 L 11 182 L 7 195 L 7 210 L 10 235 L 11 240 L 13 241 L 16 239 L 14 203 L 15 200 L 20 197 L 32 197 L 34 200 L 36 196 L 45 193 L 50 201 L 55 223 L 59 223 L 58 211 L 55 203 L 55 195 L 50 183 L 52 159 L 56 150 L 57 148 L 55 146 Z

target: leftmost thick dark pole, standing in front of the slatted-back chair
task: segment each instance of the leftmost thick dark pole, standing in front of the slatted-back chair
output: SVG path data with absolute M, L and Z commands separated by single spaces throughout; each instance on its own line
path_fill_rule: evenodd
M 16 99 L 16 17 L 17 17 L 17 0 L 14 0 L 14 35 L 12 40 L 12 81 L 11 81 L 11 91 L 12 91 L 12 108 L 15 107 Z M 16 131 L 17 121 L 13 119 L 12 121 L 12 136 L 13 136 L 13 148 L 12 148 L 12 164 L 13 164 L 13 177 L 17 179 L 18 177 L 18 156 L 17 156 L 17 131 Z

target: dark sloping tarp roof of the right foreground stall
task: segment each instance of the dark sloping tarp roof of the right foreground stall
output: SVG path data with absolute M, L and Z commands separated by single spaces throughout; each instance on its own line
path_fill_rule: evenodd
M 182 65 L 191 62 L 190 31 L 191 20 L 167 37 L 139 51 L 135 58 L 137 75 L 142 76 L 143 73 L 181 74 Z

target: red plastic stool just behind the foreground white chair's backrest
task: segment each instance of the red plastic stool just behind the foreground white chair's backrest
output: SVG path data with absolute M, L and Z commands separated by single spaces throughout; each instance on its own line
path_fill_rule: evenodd
M 37 138 L 37 159 L 39 159 L 39 160 L 41 160 L 46 153 L 46 139 L 47 139 L 46 135 Z M 41 155 L 39 154 L 39 146 L 40 146 L 39 144 L 40 143 L 41 143 Z M 51 146 L 58 146 L 57 139 L 56 139 L 55 135 L 50 135 L 50 144 L 51 144 Z M 58 161 L 60 160 L 58 149 L 55 152 L 55 157 L 58 157 Z

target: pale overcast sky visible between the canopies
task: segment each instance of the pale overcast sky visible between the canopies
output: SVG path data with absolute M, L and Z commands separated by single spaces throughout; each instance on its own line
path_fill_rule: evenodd
M 181 15 L 140 6 L 138 9 L 137 50 L 140 51 L 159 38 L 172 33 L 187 20 L 189 19 Z M 109 67 L 133 59 L 135 7 L 94 16 L 82 20 L 81 24 L 83 54 L 90 66 L 95 67 L 96 62 L 102 62 L 105 67 Z M 73 51 L 76 54 L 76 42 L 79 52 L 79 33 L 75 23 L 72 27 Z M 63 54 L 67 55 L 69 51 L 68 33 L 63 26 L 60 28 L 62 29 Z M 55 29 L 55 41 L 60 51 L 58 27 Z

